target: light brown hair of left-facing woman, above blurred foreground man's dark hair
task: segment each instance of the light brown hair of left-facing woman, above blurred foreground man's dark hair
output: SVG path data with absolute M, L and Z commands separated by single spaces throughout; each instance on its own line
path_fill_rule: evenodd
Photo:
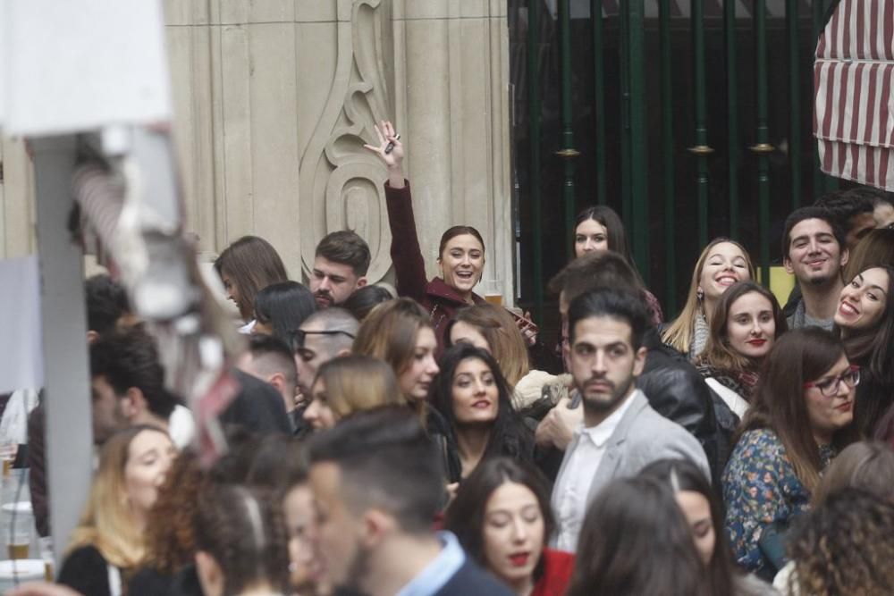
M 316 374 L 325 384 L 326 403 L 338 418 L 381 406 L 406 406 L 391 366 L 370 356 L 334 358 Z

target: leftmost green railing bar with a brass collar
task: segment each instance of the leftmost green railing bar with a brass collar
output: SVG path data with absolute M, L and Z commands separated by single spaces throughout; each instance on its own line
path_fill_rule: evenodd
M 561 79 L 561 149 L 556 152 L 565 162 L 565 180 L 562 182 L 562 198 L 565 204 L 565 249 L 568 259 L 574 258 L 574 148 L 571 111 L 571 13 L 569 0 L 559 0 L 559 77 Z

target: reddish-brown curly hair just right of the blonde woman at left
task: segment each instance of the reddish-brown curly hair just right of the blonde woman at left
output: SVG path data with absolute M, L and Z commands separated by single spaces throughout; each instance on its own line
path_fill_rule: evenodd
M 192 517 L 207 474 L 194 451 L 183 451 L 168 470 L 146 525 L 146 565 L 173 575 L 192 562 L 196 541 Z

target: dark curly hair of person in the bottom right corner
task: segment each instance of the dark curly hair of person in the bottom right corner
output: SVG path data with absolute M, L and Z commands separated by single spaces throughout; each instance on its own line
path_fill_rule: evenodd
M 830 495 L 789 543 L 789 583 L 812 596 L 890 594 L 894 586 L 894 504 L 847 488 Z M 794 592 L 792 592 L 794 593 Z

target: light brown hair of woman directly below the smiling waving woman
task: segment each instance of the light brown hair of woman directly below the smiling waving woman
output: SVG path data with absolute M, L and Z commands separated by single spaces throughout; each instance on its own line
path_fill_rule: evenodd
M 519 325 L 505 308 L 486 303 L 461 308 L 453 315 L 453 321 L 447 328 L 449 345 L 453 344 L 450 340 L 451 329 L 459 322 L 475 327 L 484 336 L 493 359 L 500 365 L 503 377 L 510 387 L 515 387 L 530 371 L 525 338 Z

